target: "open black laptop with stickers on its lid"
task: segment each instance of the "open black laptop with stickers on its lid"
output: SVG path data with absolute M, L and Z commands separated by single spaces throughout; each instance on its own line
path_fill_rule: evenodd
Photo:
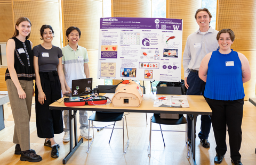
M 92 78 L 88 79 L 79 79 L 79 80 L 72 80 L 72 91 L 71 95 L 78 96 L 79 94 L 83 93 L 82 95 L 92 93 Z M 85 92 L 88 91 L 88 92 Z

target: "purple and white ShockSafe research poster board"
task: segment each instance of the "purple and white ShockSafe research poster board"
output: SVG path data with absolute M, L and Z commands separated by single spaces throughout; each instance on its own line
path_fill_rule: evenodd
M 182 20 L 101 18 L 98 79 L 179 82 Z

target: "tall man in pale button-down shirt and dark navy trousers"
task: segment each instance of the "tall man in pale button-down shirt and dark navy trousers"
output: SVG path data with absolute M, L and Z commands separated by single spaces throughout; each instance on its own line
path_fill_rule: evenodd
M 207 8 L 198 9 L 195 14 L 195 19 L 199 25 L 199 29 L 188 36 L 184 54 L 183 54 L 183 68 L 185 77 L 185 86 L 188 89 L 188 95 L 203 95 L 205 82 L 198 76 L 199 66 L 202 59 L 207 53 L 210 53 L 218 48 L 218 41 L 216 39 L 217 30 L 210 27 L 212 15 Z M 191 143 L 191 120 L 188 120 L 188 139 Z M 198 136 L 205 148 L 210 147 L 207 140 L 211 129 L 211 118 L 209 115 L 201 116 L 201 132 Z

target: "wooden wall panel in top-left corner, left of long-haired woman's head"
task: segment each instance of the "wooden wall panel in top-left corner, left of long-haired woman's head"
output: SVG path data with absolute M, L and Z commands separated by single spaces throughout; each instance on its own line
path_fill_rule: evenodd
M 12 3 L 0 1 L 0 42 L 6 42 L 14 33 Z

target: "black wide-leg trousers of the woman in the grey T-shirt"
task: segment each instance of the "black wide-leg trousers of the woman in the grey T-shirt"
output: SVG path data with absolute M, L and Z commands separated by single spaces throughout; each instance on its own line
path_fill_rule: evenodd
M 44 104 L 38 101 L 38 89 L 36 89 L 36 129 L 37 136 L 52 138 L 54 134 L 63 132 L 63 119 L 61 110 L 50 110 L 49 105 L 61 98 L 61 86 L 57 71 L 39 72 L 42 89 L 46 96 Z

